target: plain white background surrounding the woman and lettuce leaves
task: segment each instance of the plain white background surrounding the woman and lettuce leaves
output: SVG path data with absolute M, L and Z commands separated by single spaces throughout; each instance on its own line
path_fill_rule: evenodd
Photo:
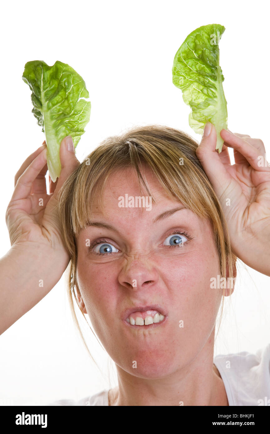
M 133 125 L 169 125 L 200 140 L 189 127 L 190 109 L 182 92 L 172 84 L 172 63 L 192 30 L 219 23 L 226 28 L 219 47 L 228 128 L 261 138 L 270 161 L 269 14 L 265 5 L 264 1 L 201 0 L 5 2 L 0 29 L 0 256 L 10 248 L 5 212 L 14 175 L 44 140 L 31 113 L 30 89 L 21 78 L 26 62 L 39 59 L 53 65 L 60 60 L 85 80 L 91 118 L 77 147 L 80 161 L 101 140 Z M 269 310 L 270 277 L 238 267 L 215 354 L 255 352 L 267 345 Z M 38 305 L 0 336 L 0 400 L 42 404 L 79 399 L 107 388 L 108 356 L 91 331 L 84 329 L 103 376 L 75 332 L 63 276 Z M 114 385 L 115 376 L 111 378 Z

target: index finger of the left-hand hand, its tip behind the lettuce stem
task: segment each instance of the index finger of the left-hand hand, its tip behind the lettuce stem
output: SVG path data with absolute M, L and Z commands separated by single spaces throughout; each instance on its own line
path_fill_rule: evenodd
M 16 182 L 11 201 L 25 199 L 29 194 L 31 194 L 32 184 L 46 164 L 46 153 L 47 148 L 44 148 L 29 164 L 23 174 L 20 175 L 20 178 Z

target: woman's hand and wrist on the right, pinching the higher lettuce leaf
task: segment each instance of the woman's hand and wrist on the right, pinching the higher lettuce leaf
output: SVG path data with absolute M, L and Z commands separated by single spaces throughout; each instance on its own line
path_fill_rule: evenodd
M 207 125 L 211 126 L 208 136 Z M 215 127 L 206 124 L 197 157 L 224 210 L 234 253 L 270 276 L 270 163 L 263 142 L 225 129 L 220 135 L 224 145 L 218 154 Z M 228 147 L 234 149 L 235 164 Z

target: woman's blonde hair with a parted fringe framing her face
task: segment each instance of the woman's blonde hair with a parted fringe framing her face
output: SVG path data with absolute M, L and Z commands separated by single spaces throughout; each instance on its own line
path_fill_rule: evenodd
M 75 313 L 75 301 L 80 308 L 74 290 L 75 286 L 78 290 L 76 237 L 80 230 L 91 222 L 91 202 L 95 194 L 100 197 L 100 207 L 104 212 L 105 184 L 116 169 L 133 168 L 137 173 L 140 187 L 142 183 L 148 195 L 152 196 L 140 171 L 141 163 L 146 163 L 156 174 L 169 197 L 182 202 L 198 217 L 210 219 L 219 256 L 221 276 L 234 278 L 237 257 L 231 249 L 228 227 L 221 204 L 196 156 L 197 147 L 198 143 L 188 134 L 165 125 L 133 127 L 121 135 L 111 136 L 102 141 L 68 177 L 59 191 L 60 224 L 66 248 L 71 257 L 68 273 L 68 300 L 73 319 L 90 356 L 91 353 Z M 224 291 L 225 289 L 223 290 L 221 315 Z M 92 329 L 91 331 L 93 332 Z

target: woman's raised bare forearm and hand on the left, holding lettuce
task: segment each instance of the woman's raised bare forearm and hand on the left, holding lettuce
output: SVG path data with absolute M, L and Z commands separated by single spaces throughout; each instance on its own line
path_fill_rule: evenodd
M 0 334 L 46 296 L 68 266 L 56 206 L 60 187 L 80 164 L 73 148 L 71 137 L 62 140 L 62 170 L 55 183 L 49 178 L 49 194 L 45 142 L 16 173 L 6 213 L 11 248 L 0 260 Z

